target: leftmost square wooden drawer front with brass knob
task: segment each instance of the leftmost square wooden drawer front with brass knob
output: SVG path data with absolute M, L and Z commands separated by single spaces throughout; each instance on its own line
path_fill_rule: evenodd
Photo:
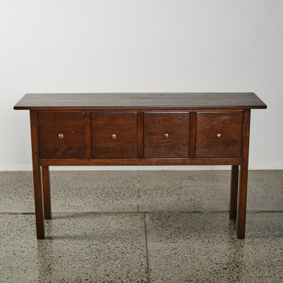
M 86 157 L 84 113 L 42 112 L 38 119 L 40 158 Z

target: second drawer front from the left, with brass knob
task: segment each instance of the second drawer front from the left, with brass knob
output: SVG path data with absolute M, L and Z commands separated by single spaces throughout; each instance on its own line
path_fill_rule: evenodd
M 137 157 L 137 113 L 91 113 L 91 137 L 92 158 Z

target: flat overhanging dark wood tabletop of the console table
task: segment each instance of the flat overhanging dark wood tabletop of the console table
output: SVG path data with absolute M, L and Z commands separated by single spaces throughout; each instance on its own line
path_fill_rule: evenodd
M 27 94 L 14 109 L 35 110 L 236 110 L 266 108 L 253 92 Z

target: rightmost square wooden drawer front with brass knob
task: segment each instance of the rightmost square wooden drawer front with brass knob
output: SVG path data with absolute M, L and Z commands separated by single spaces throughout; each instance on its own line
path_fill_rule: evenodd
M 241 157 L 242 112 L 198 112 L 196 138 L 196 157 Z

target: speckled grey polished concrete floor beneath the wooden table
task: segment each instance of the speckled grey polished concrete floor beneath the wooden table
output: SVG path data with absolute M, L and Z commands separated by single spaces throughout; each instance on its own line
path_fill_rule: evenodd
M 248 175 L 246 239 L 230 172 L 52 171 L 37 240 L 31 172 L 0 173 L 0 282 L 283 282 L 283 170 Z

